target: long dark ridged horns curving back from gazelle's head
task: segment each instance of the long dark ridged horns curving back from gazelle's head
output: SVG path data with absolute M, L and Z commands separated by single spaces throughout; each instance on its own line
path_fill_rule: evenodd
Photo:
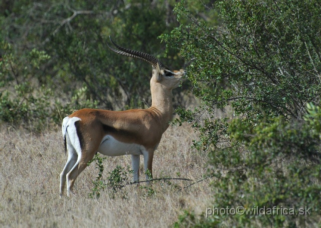
M 156 59 L 155 57 L 153 57 L 152 55 L 149 55 L 147 53 L 144 52 L 138 52 L 138 51 L 133 51 L 127 48 L 123 48 L 120 47 L 119 45 L 115 44 L 115 42 L 113 42 L 113 40 L 111 39 L 111 37 L 109 36 L 110 41 L 112 42 L 112 44 L 119 50 L 113 49 L 112 47 L 109 46 L 108 42 L 107 46 L 110 50 L 112 50 L 113 52 L 123 55 L 123 56 L 127 56 L 127 57 L 131 57 L 131 58 L 135 58 L 135 59 L 140 59 L 143 60 L 147 63 L 149 63 L 150 65 L 152 65 L 154 68 L 157 67 L 157 62 L 159 64 L 159 67 L 164 70 L 168 70 L 168 67 L 166 67 L 161 61 L 159 61 L 158 59 Z

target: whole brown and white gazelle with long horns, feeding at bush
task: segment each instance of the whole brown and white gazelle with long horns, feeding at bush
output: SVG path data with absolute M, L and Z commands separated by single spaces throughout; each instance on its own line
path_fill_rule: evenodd
M 152 174 L 154 151 L 172 119 L 172 90 L 179 86 L 185 71 L 170 71 L 149 54 L 122 48 L 111 42 L 118 50 L 107 45 L 115 53 L 143 60 L 152 66 L 151 107 L 127 111 L 81 109 L 65 117 L 62 134 L 65 150 L 68 149 L 68 160 L 60 174 L 60 196 L 66 180 L 67 195 L 73 194 L 77 176 L 97 152 L 107 156 L 130 154 L 133 181 L 139 181 L 139 159 L 143 155 L 144 170 L 148 169 Z M 146 179 L 149 179 L 148 175 Z

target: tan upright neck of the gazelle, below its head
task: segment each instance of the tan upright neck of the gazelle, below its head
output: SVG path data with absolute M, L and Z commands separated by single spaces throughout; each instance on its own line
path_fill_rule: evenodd
M 150 85 L 151 107 L 157 113 L 158 118 L 163 124 L 165 131 L 169 127 L 169 122 L 173 116 L 173 95 L 172 90 L 166 89 L 162 84 Z

